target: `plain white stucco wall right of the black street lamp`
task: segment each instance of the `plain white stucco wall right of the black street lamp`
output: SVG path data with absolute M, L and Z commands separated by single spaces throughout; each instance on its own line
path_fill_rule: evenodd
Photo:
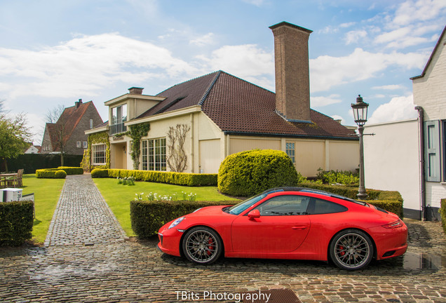
M 421 210 L 417 119 L 365 126 L 365 187 L 399 191 L 404 208 Z

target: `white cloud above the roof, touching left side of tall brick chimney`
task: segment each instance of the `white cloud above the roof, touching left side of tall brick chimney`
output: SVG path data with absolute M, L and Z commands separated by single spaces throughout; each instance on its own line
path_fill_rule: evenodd
M 206 62 L 211 70 L 222 69 L 243 79 L 262 75 L 273 75 L 273 54 L 255 44 L 222 46 L 214 50 L 210 58 L 197 57 Z

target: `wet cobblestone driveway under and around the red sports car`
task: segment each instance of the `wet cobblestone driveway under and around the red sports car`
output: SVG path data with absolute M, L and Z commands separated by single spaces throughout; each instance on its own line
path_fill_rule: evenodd
M 81 199 L 77 194 L 70 199 Z M 94 220 L 86 222 L 94 234 Z M 82 241 L 67 245 L 53 231 L 59 242 L 50 241 L 45 248 L 0 249 L 0 300 L 194 302 L 192 292 L 203 299 L 205 291 L 290 288 L 302 302 L 446 302 L 446 245 L 440 224 L 405 222 L 410 248 L 404 257 L 373 262 L 353 272 L 323 262 L 288 260 L 222 259 L 203 267 L 163 255 L 156 249 L 156 239 L 119 242 L 116 236 L 104 242 L 95 241 L 100 235 L 96 234 L 89 238 L 95 245 Z M 72 234 L 78 225 L 69 224 Z M 182 299 L 182 294 L 189 298 Z

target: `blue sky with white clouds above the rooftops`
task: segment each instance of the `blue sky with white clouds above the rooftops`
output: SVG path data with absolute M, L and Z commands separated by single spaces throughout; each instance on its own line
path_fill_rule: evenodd
M 311 107 L 354 125 L 417 115 L 421 74 L 446 25 L 446 0 L 6 1 L 0 0 L 0 99 L 27 113 L 35 144 L 58 105 L 104 102 L 222 69 L 274 91 L 273 34 L 287 21 L 309 38 Z

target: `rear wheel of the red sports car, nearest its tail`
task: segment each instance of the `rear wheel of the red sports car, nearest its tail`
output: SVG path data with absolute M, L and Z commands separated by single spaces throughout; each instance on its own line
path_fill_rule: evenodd
M 330 242 L 330 258 L 340 269 L 362 269 L 372 261 L 373 254 L 370 236 L 358 229 L 345 229 Z

